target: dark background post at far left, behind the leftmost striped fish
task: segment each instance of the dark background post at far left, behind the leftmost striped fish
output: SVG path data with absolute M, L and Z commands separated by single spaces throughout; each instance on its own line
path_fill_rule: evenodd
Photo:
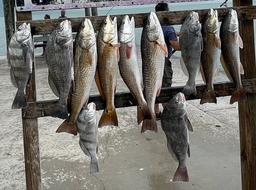
M 9 42 L 10 39 L 13 36 L 13 32 L 14 32 L 14 28 L 13 28 L 13 18 L 14 18 L 14 14 L 13 13 L 13 1 L 9 1 L 9 0 L 3 0 L 3 12 L 4 12 L 4 22 L 6 25 L 6 50 L 8 52 L 8 46 L 9 46 Z M 8 58 L 8 66 L 10 66 L 10 60 L 9 57 Z

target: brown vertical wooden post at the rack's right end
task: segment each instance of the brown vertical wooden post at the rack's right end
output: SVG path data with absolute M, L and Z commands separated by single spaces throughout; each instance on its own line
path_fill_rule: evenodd
M 233 0 L 233 6 L 251 6 L 252 0 Z M 253 20 L 239 20 L 239 34 L 243 40 L 240 59 L 243 79 L 256 78 Z M 239 102 L 242 189 L 256 189 L 256 94 L 247 94 L 247 101 Z

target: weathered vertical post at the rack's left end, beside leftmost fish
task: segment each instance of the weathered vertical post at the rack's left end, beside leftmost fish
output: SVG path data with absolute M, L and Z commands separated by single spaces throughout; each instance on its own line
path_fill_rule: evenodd
M 31 12 L 17 12 L 17 20 L 31 20 Z M 34 47 L 33 47 L 34 48 Z M 35 59 L 35 58 L 34 58 Z M 26 88 L 26 98 L 36 101 L 35 61 L 33 62 L 32 78 Z M 25 112 L 24 112 L 25 114 Z M 25 158 L 26 189 L 41 190 L 41 165 L 39 154 L 38 118 L 22 119 Z

